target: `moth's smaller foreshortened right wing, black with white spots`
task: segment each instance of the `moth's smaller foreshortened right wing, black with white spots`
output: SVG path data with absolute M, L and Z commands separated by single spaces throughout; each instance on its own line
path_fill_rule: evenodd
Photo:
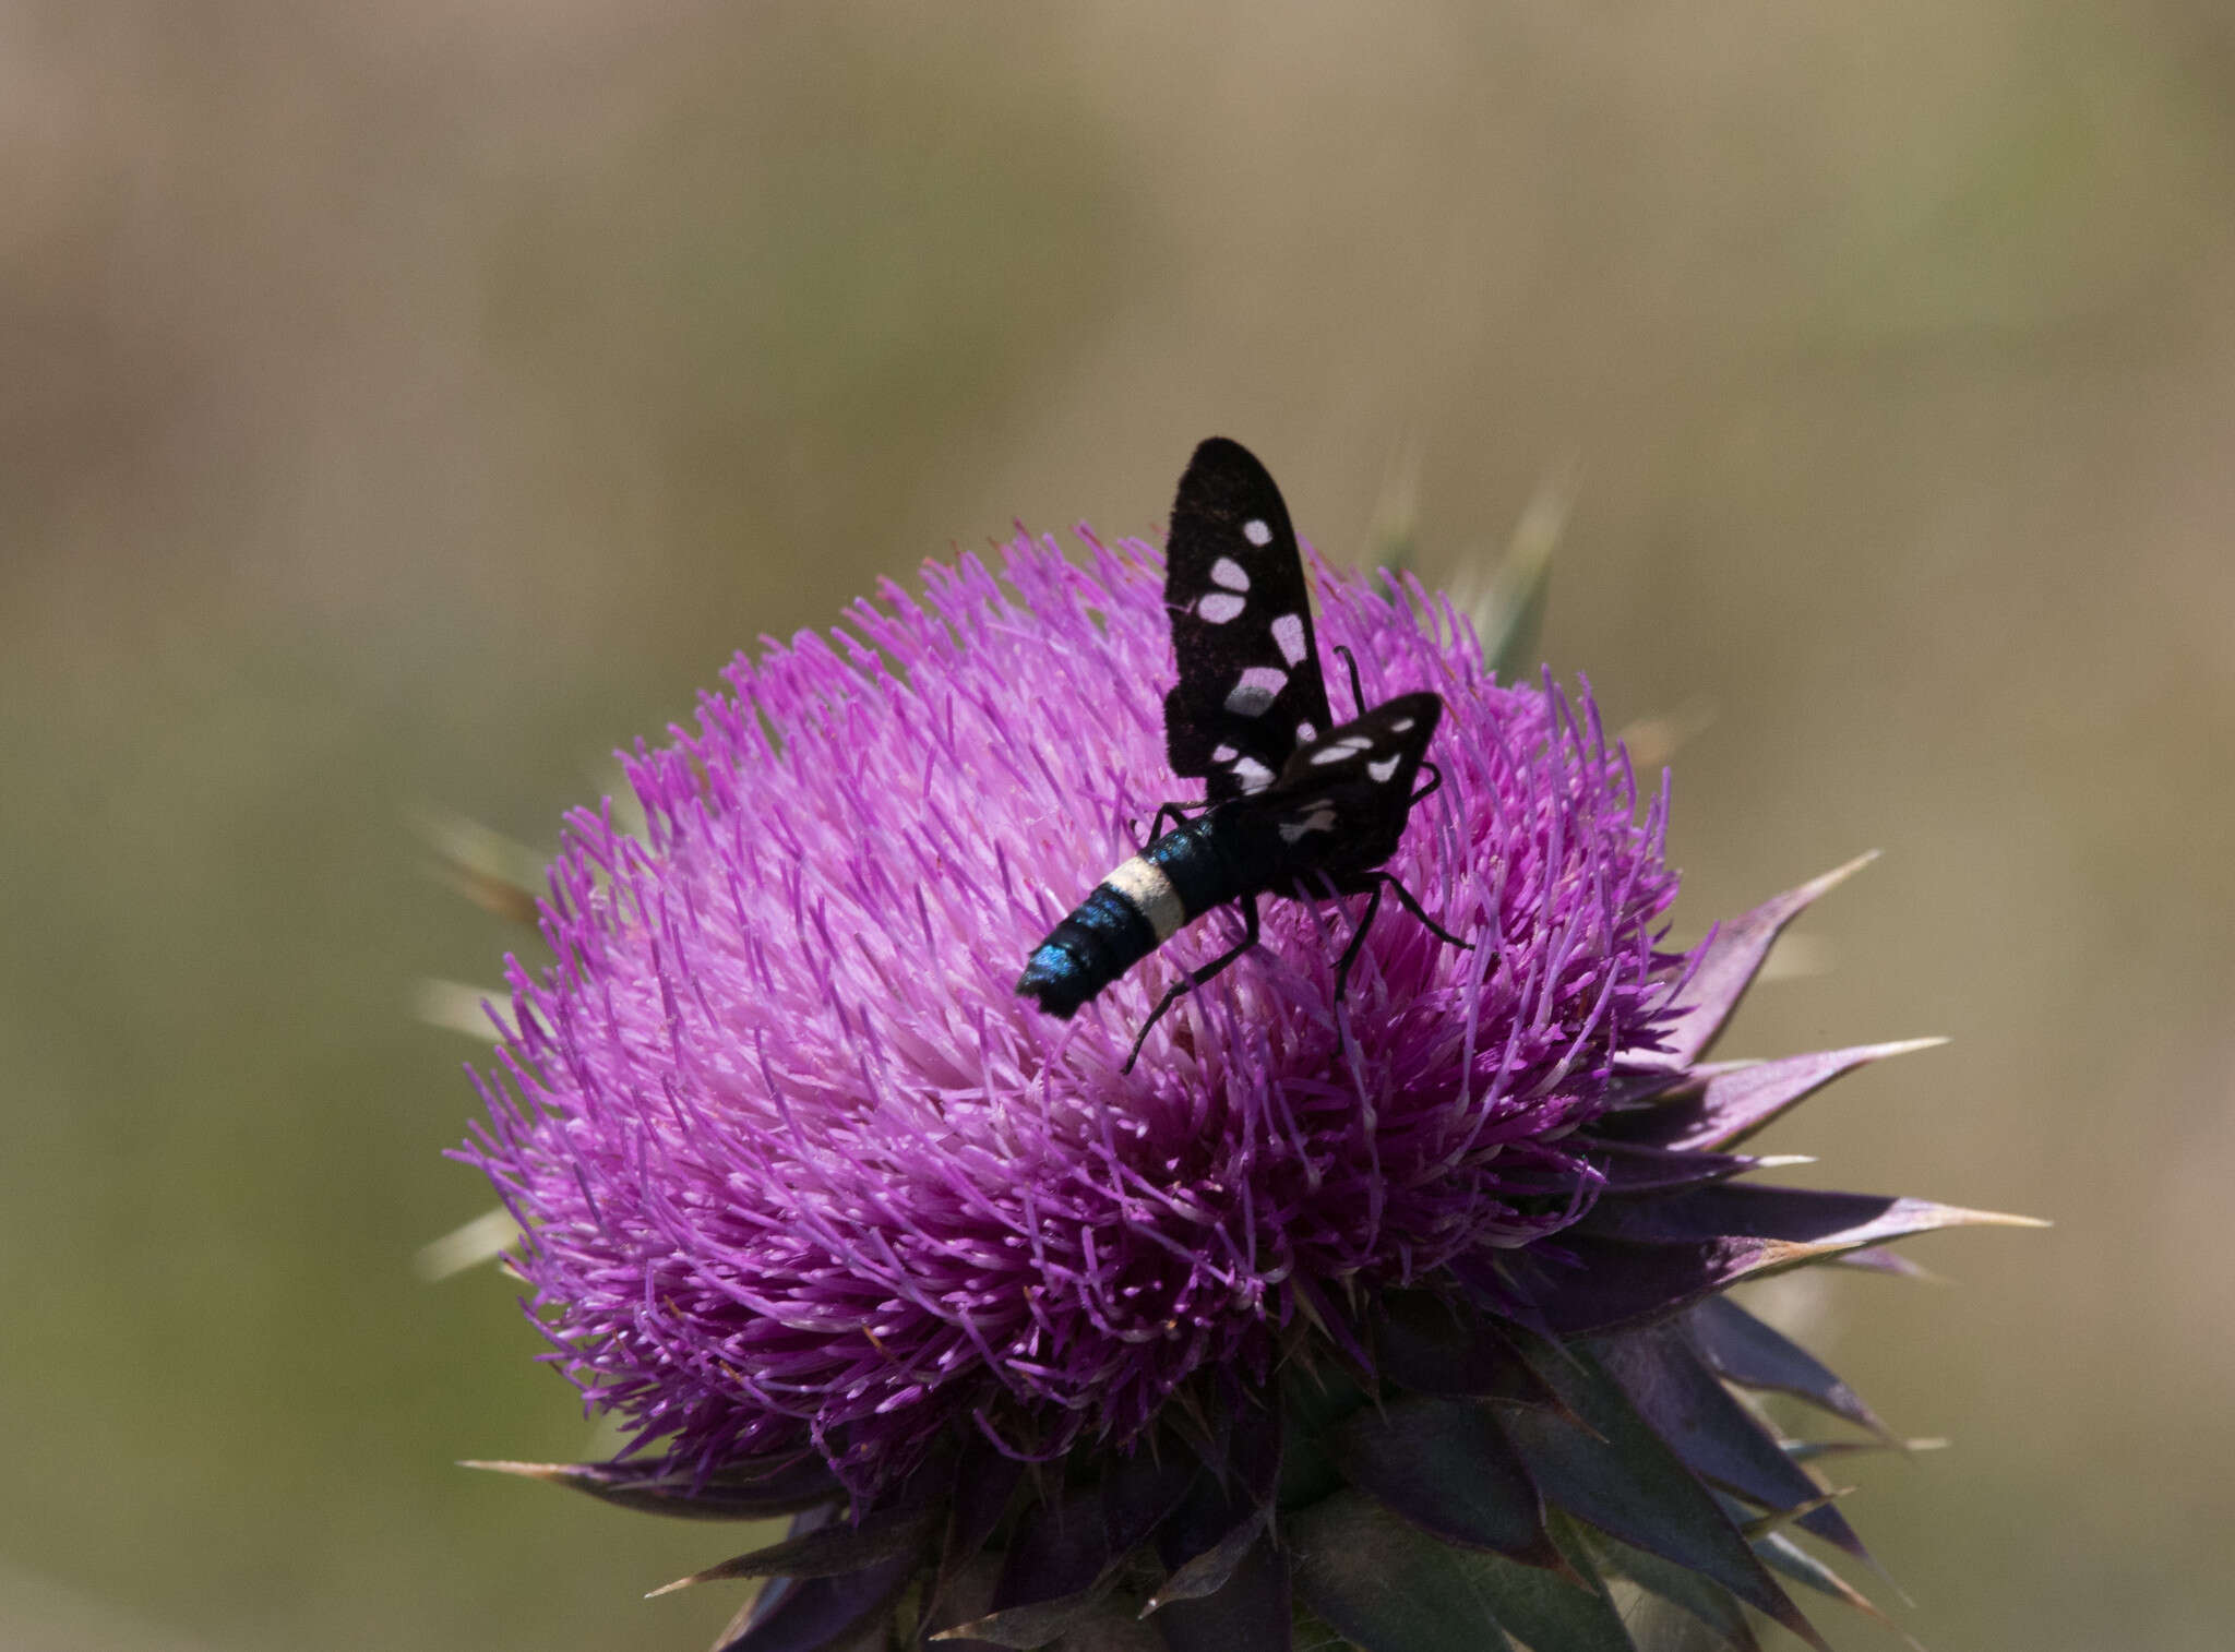
M 1413 816 L 1413 782 L 1444 700 L 1408 693 L 1383 700 L 1357 722 L 1299 747 L 1258 798 L 1283 854 L 1305 872 L 1341 879 L 1370 872 L 1397 852 Z

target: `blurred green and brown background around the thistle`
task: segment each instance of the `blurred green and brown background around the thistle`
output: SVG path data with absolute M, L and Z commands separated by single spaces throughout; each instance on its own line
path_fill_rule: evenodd
M 2235 13 L 0 4 L 0 1645 L 697 1645 L 411 1019 L 760 633 L 1209 431 L 1502 543 L 1676 758 L 1683 932 L 1866 847 L 1725 1046 L 1951 1033 L 1779 1129 L 2056 1218 L 1801 1303 L 1953 1451 L 1851 1513 L 1953 1648 L 2235 1621 Z M 1826 1610 L 1842 1648 L 1895 1641 Z

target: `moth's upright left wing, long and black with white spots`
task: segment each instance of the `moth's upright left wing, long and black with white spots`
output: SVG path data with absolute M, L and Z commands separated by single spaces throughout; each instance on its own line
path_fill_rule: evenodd
M 1171 771 L 1202 776 L 1211 803 L 1263 791 L 1334 718 L 1287 505 L 1225 436 L 1202 443 L 1180 476 L 1164 606 L 1180 668 L 1164 695 Z

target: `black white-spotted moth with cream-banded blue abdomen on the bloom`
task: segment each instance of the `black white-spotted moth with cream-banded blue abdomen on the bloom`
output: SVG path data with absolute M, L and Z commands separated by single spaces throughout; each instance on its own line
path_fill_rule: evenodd
M 1164 695 L 1164 747 L 1171 771 L 1200 778 L 1205 796 L 1162 805 L 1149 847 L 1055 925 L 1017 981 L 1019 995 L 1068 1019 L 1205 912 L 1240 905 L 1240 943 L 1164 993 L 1126 1069 L 1164 1010 L 1258 943 L 1258 896 L 1370 896 L 1334 972 L 1337 1001 L 1383 890 L 1439 941 L 1466 946 L 1381 870 L 1413 805 L 1442 785 L 1428 740 L 1444 702 L 1408 693 L 1366 709 L 1343 651 L 1359 715 L 1334 722 L 1287 505 L 1256 456 L 1225 436 L 1196 447 L 1180 476 L 1164 608 L 1180 671 Z M 1415 791 L 1421 769 L 1430 778 Z

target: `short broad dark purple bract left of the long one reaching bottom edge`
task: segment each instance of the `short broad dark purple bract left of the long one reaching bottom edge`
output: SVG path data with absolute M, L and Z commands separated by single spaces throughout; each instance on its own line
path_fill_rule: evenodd
M 1350 1484 L 1428 1536 L 1564 1569 L 1544 1500 L 1482 1402 L 1397 1399 L 1361 1411 L 1330 1446 Z

